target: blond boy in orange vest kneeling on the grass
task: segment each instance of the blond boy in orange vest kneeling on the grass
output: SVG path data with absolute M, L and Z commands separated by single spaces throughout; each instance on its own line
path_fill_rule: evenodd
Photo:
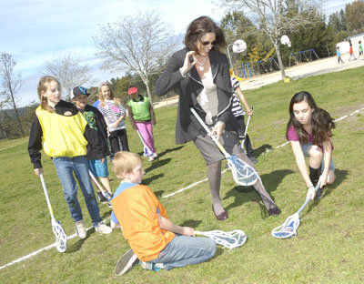
M 174 269 L 211 259 L 217 246 L 210 238 L 196 237 L 193 228 L 167 219 L 166 209 L 152 189 L 140 185 L 145 174 L 143 159 L 135 153 L 117 152 L 112 162 L 116 189 L 111 219 L 119 222 L 133 253 L 126 254 L 124 274 L 140 260 L 144 269 Z

